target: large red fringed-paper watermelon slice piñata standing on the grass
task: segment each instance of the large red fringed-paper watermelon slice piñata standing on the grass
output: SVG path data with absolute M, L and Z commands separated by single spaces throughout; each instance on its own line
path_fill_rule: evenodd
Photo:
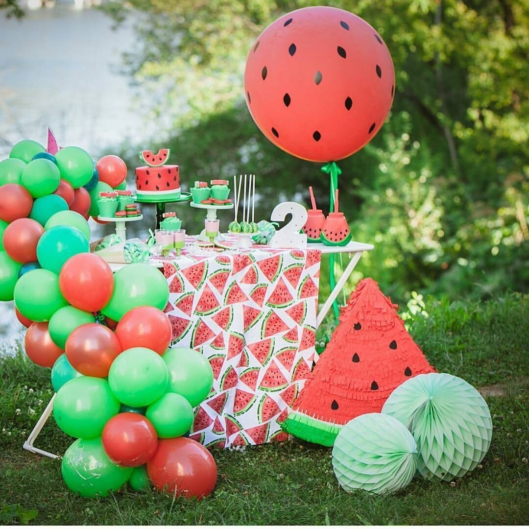
M 402 382 L 434 370 L 404 328 L 396 305 L 372 279 L 352 293 L 305 387 L 282 425 L 300 439 L 332 446 L 343 425 L 380 412 Z

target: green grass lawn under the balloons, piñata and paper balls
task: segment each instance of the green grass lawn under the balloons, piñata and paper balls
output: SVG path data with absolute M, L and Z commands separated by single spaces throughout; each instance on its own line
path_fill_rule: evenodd
M 71 494 L 60 462 L 22 450 L 52 391 L 49 370 L 22 354 L 0 360 L 0 523 L 16 504 L 38 524 L 526 524 L 529 523 L 529 296 L 487 303 L 426 303 L 409 321 L 439 370 L 485 388 L 492 444 L 482 464 L 449 482 L 415 478 L 389 497 L 348 494 L 338 486 L 331 450 L 297 440 L 214 450 L 219 479 L 201 502 L 124 490 L 108 498 Z M 63 453 L 71 439 L 50 420 L 37 445 Z M 4 514 L 2 514 L 2 507 Z M 32 513 L 33 515 L 35 513 Z M 31 517 L 31 515 L 30 515 Z

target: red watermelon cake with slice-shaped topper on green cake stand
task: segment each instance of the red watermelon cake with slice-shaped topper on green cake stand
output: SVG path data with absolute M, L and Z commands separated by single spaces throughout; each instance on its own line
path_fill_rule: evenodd
M 138 198 L 180 198 L 180 171 L 178 166 L 167 165 L 170 154 L 170 149 L 160 149 L 156 154 L 140 152 L 140 159 L 145 165 L 136 167 Z

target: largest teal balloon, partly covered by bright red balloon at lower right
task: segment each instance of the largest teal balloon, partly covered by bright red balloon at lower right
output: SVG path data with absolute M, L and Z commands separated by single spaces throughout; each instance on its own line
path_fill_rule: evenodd
M 42 268 L 59 273 L 70 257 L 89 251 L 88 240 L 80 230 L 71 226 L 53 226 L 39 239 L 37 259 Z

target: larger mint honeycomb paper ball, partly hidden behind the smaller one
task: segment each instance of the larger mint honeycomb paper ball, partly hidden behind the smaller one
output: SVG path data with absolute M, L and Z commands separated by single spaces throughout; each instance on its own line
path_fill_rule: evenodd
M 409 428 L 418 446 L 417 469 L 426 479 L 463 476 L 490 446 L 487 403 L 468 382 L 447 373 L 407 380 L 391 393 L 382 413 Z

